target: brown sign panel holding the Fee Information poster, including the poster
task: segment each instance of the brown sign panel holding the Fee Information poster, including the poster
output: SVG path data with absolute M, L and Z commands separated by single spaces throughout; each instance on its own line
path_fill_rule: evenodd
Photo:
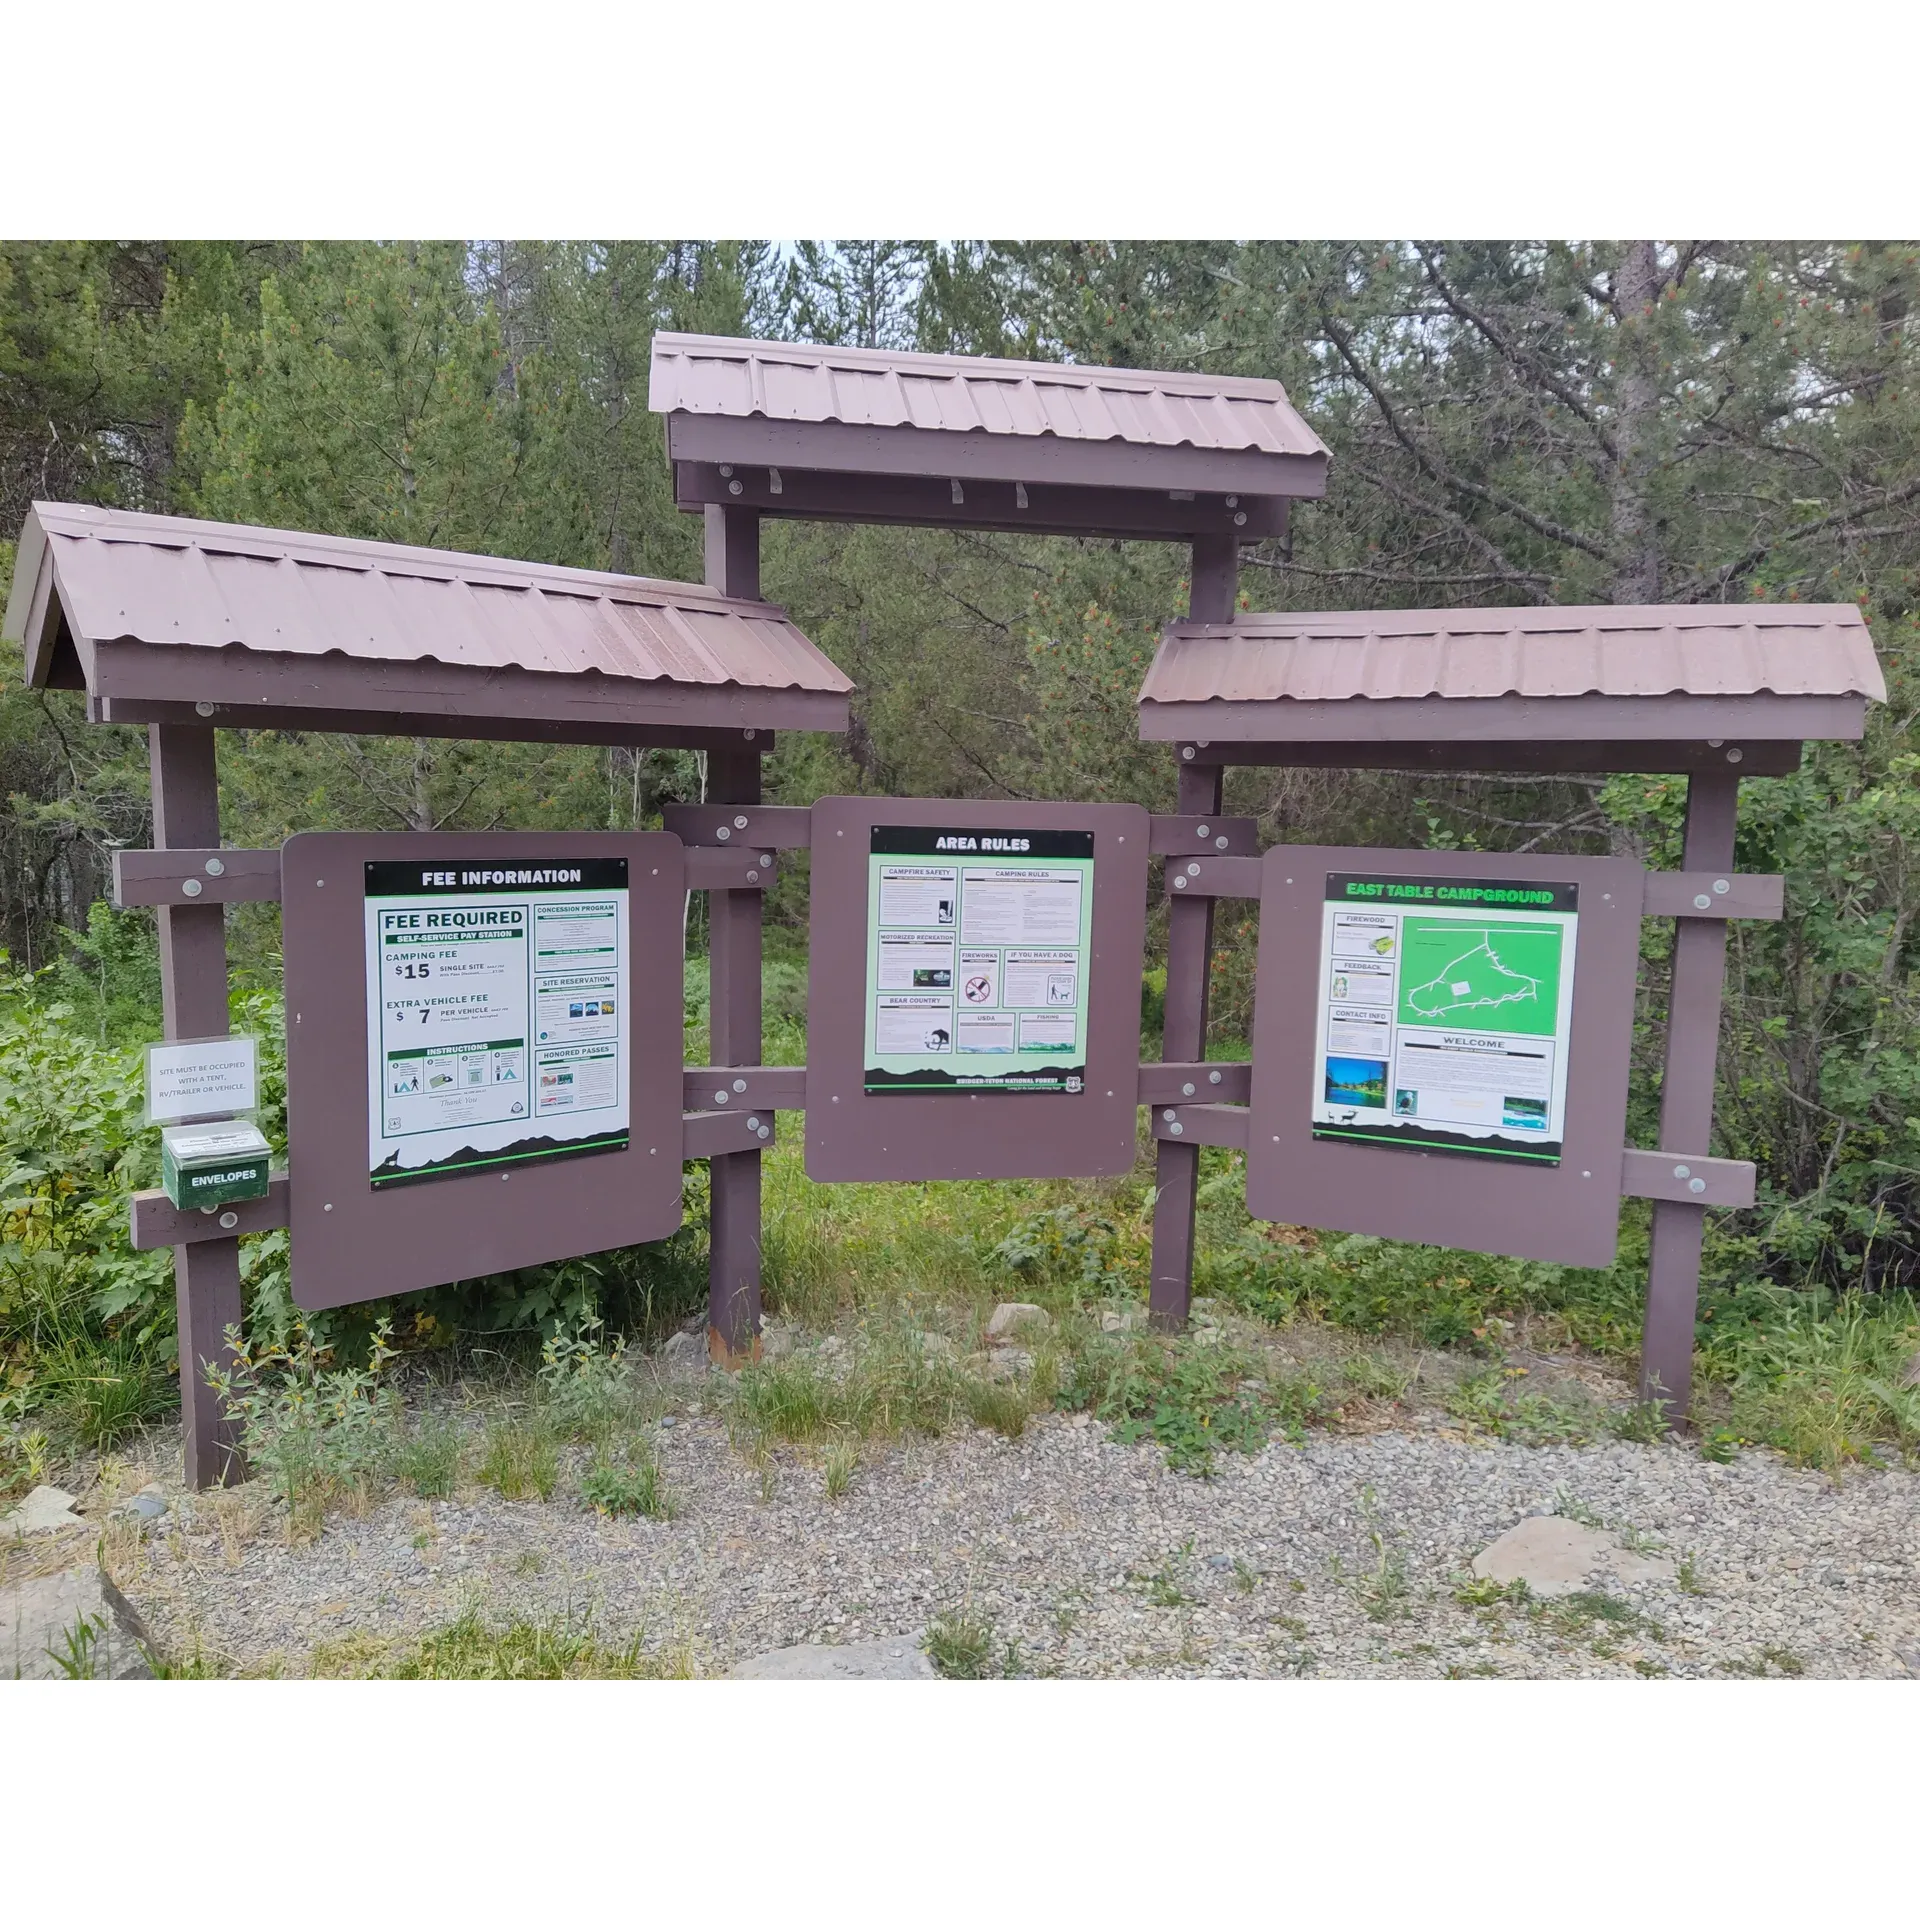
M 300 1306 L 680 1227 L 684 899 L 672 833 L 286 843 Z

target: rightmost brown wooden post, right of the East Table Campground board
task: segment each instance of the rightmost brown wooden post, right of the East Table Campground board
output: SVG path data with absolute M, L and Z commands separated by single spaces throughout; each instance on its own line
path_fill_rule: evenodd
M 1734 870 L 1740 774 L 1688 778 L 1688 872 Z M 1726 922 L 1674 924 L 1672 989 L 1667 996 L 1667 1066 L 1661 1075 L 1661 1152 L 1705 1154 L 1713 1146 L 1713 1081 L 1720 1050 L 1720 987 L 1726 977 Z M 1699 1250 L 1705 1210 L 1653 1202 L 1647 1252 L 1647 1319 L 1640 1344 L 1640 1396 L 1688 1417 L 1693 1392 L 1693 1315 L 1699 1306 Z

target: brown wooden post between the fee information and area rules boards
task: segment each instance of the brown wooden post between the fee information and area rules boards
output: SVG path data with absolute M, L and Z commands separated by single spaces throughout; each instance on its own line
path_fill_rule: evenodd
M 707 509 L 707 584 L 733 599 L 760 597 L 760 515 L 751 507 Z M 707 755 L 707 799 L 760 803 L 760 755 L 753 743 Z M 762 897 L 730 889 L 707 900 L 707 1058 L 756 1068 Z M 733 1369 L 760 1344 L 760 1156 L 716 1154 L 710 1179 L 707 1350 L 716 1365 Z

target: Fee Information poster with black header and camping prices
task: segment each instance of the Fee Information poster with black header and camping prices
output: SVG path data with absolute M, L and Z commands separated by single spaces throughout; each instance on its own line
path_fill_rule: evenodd
M 626 879 L 367 862 L 376 1188 L 628 1144 Z

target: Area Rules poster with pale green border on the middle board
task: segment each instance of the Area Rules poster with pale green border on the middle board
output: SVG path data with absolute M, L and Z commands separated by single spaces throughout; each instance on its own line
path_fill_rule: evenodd
M 1092 833 L 874 828 L 868 1092 L 1079 1092 Z

